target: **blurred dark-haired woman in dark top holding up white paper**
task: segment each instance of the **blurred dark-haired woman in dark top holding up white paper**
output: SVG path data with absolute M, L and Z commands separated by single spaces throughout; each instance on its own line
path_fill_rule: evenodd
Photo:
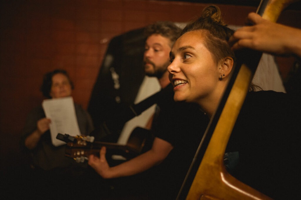
M 41 91 L 45 97 L 49 99 L 70 97 L 72 90 L 73 83 L 67 71 L 54 70 L 44 75 Z M 94 129 L 92 119 L 79 104 L 75 103 L 74 106 L 80 132 L 88 135 Z M 28 184 L 28 187 L 32 187 L 29 191 L 35 188 L 34 194 L 55 198 L 55 195 L 62 195 L 61 190 L 64 187 L 69 187 L 68 183 L 73 178 L 70 176 L 82 173 L 87 166 L 75 165 L 72 159 L 65 157 L 65 145 L 58 147 L 52 145 L 50 123 L 51 119 L 45 117 L 42 105 L 37 106 L 27 116 L 20 142 L 32 158 L 31 168 L 34 176 L 28 180 L 29 183 L 33 183 Z

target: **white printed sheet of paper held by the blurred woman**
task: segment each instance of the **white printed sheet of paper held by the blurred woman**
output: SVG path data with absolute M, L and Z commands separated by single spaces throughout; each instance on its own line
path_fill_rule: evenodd
M 51 119 L 50 134 L 54 146 L 66 144 L 56 139 L 57 133 L 70 136 L 80 135 L 72 97 L 47 99 L 42 103 L 45 115 Z

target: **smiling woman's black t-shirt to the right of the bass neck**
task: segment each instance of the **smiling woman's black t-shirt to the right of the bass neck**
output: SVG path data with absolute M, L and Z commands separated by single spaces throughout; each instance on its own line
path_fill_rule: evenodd
M 249 92 L 226 149 L 228 171 L 274 199 L 300 199 L 300 111 L 288 94 Z

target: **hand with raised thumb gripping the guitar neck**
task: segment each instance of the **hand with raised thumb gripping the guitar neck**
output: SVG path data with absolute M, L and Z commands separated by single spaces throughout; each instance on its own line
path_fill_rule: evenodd
M 106 147 L 102 147 L 99 152 L 99 158 L 93 154 L 89 156 L 88 164 L 99 174 L 102 178 L 110 178 L 110 166 L 106 159 Z

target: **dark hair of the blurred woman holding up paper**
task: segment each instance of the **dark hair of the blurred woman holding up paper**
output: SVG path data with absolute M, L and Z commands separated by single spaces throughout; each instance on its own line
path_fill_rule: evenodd
M 61 73 L 61 74 L 65 75 L 69 80 L 69 83 L 71 85 L 71 89 L 74 89 L 73 82 L 71 81 L 67 71 L 66 70 L 61 70 L 61 69 L 56 69 L 54 71 L 51 71 L 51 72 L 48 72 L 48 73 L 44 74 L 43 82 L 42 82 L 42 85 L 41 85 L 41 88 L 40 88 L 40 91 L 42 92 L 44 97 L 47 97 L 47 98 L 51 99 L 50 91 L 51 91 L 51 86 L 52 86 L 52 77 L 55 74 L 58 74 L 58 73 Z

